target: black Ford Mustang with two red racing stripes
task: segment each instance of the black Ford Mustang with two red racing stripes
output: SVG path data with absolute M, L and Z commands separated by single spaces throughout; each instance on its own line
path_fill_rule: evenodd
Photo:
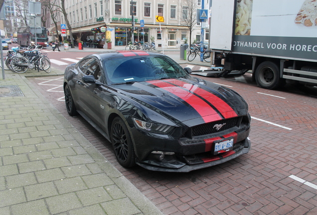
M 246 102 L 190 73 L 159 53 L 89 55 L 65 70 L 66 108 L 112 142 L 124 167 L 189 172 L 248 153 Z

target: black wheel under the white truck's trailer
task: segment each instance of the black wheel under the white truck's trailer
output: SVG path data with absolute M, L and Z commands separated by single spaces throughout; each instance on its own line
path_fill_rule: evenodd
M 276 89 L 282 84 L 280 69 L 275 63 L 265 61 L 256 69 L 255 80 L 261 88 L 269 90 Z

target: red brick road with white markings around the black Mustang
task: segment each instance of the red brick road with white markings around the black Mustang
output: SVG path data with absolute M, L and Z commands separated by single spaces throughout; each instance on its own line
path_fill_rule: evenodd
M 252 145 L 248 154 L 189 173 L 121 167 L 111 143 L 81 116 L 67 114 L 63 77 L 29 80 L 166 215 L 316 215 L 316 88 L 265 90 L 250 83 L 249 73 L 228 79 L 200 78 L 224 85 L 246 100 L 252 116 Z

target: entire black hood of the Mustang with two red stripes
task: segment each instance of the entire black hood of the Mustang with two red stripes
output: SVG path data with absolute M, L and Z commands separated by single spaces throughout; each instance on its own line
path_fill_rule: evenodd
M 169 120 L 192 126 L 247 114 L 247 104 L 237 93 L 197 78 L 136 82 L 113 86 L 135 101 L 150 116 L 150 108 Z M 141 104 L 140 106 L 138 104 Z M 146 108 L 143 108 L 146 107 Z M 142 109 L 143 108 L 143 109 Z

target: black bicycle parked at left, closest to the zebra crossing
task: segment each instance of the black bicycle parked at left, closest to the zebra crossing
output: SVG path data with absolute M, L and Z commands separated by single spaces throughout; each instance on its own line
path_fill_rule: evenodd
M 21 56 L 11 59 L 10 67 L 16 73 L 25 73 L 28 69 L 44 70 L 51 72 L 51 63 L 47 53 L 42 54 L 38 49 L 23 51 Z

